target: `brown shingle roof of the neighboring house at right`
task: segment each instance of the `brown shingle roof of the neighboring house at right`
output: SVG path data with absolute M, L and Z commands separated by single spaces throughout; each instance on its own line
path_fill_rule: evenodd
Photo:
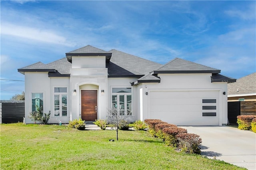
M 256 72 L 228 84 L 228 95 L 256 93 Z

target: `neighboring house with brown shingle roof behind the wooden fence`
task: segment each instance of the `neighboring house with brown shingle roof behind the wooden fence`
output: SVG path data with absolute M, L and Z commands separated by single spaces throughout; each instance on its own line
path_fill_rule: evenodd
M 228 101 L 256 101 L 256 72 L 228 84 Z

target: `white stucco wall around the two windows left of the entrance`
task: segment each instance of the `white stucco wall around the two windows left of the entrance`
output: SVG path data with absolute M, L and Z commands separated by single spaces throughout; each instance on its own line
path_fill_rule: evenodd
M 25 123 L 34 123 L 29 118 L 32 112 L 32 93 L 43 93 L 44 113 L 51 111 L 48 123 L 68 123 L 67 117 L 54 116 L 54 87 L 67 87 L 68 110 L 70 108 L 70 78 L 48 77 L 48 72 L 25 72 Z

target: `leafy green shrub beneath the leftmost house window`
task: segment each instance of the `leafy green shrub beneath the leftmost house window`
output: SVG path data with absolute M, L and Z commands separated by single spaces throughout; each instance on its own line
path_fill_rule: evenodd
M 34 121 L 40 121 L 43 124 L 47 124 L 48 120 L 50 119 L 51 111 L 48 113 L 43 113 L 42 112 L 42 106 L 39 107 L 36 105 L 36 111 L 30 112 L 29 113 L 29 118 L 31 118 Z

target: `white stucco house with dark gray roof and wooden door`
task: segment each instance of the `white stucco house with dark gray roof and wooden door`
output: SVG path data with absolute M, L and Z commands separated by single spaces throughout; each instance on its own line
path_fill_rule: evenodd
M 161 119 L 176 125 L 227 124 L 227 83 L 235 79 L 175 58 L 161 65 L 115 49 L 87 45 L 66 58 L 18 69 L 25 75 L 25 121 L 35 105 L 51 111 L 49 123 L 106 119 L 116 108 L 132 121 Z

